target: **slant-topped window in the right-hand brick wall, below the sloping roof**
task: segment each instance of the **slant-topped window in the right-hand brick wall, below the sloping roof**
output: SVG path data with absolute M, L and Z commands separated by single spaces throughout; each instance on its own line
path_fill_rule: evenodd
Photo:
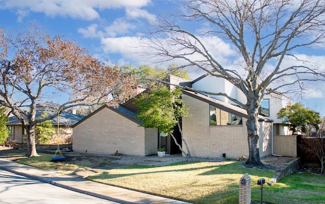
M 240 116 L 210 105 L 210 125 L 243 125 L 243 120 Z

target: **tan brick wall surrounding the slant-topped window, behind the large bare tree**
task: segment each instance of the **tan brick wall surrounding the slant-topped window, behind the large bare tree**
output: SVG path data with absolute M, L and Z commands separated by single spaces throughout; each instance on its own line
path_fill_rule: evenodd
M 242 126 L 210 126 L 208 103 L 187 95 L 183 95 L 182 99 L 191 114 L 190 118 L 183 119 L 182 129 L 192 156 L 221 157 L 221 153 L 225 153 L 226 157 L 230 158 L 248 157 L 245 118 Z M 267 124 L 271 127 L 270 123 Z M 261 157 L 271 154 L 269 139 L 264 139 L 264 131 L 267 131 L 267 128 L 262 127 L 264 126 L 261 123 L 260 131 L 263 133 L 259 141 Z

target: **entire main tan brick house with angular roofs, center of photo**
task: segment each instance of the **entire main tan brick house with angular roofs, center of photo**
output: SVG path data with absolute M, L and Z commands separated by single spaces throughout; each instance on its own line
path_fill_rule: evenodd
M 170 76 L 168 82 L 182 86 L 195 87 L 200 80 L 188 81 Z M 207 83 L 208 85 L 208 83 Z M 210 84 L 211 85 L 211 84 Z M 214 84 L 218 86 L 218 84 Z M 203 87 L 203 86 L 201 86 Z M 232 96 L 244 98 L 236 89 L 224 84 L 224 91 Z M 225 88 L 229 90 L 225 90 Z M 173 86 L 171 86 L 173 89 Z M 206 90 L 205 90 L 206 91 Z M 213 90 L 211 89 L 211 92 Z M 189 107 L 191 118 L 182 120 L 182 131 L 191 155 L 194 157 L 237 158 L 248 157 L 247 112 L 236 105 L 210 96 L 183 90 L 183 104 Z M 133 99 L 118 108 L 103 106 L 74 125 L 73 149 L 77 152 L 114 154 L 118 151 L 125 155 L 156 154 L 157 148 L 165 147 L 167 154 L 180 153 L 170 135 L 164 137 L 158 130 L 140 127 L 136 119 Z M 260 116 L 261 126 L 259 151 L 261 157 L 271 155 L 272 120 Z M 177 130 L 175 137 L 181 143 Z M 185 147 L 182 144 L 182 147 Z

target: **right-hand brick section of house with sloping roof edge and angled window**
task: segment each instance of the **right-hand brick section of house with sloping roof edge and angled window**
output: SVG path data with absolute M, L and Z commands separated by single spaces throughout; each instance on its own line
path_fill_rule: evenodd
M 184 139 L 194 157 L 248 157 L 247 112 L 210 96 L 183 90 L 190 118 L 182 120 Z M 272 121 L 259 116 L 259 154 L 272 154 Z

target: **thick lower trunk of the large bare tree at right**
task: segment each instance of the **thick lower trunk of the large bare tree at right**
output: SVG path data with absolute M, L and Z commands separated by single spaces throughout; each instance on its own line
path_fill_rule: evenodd
M 249 158 L 246 164 L 253 164 L 257 166 L 263 166 L 261 159 L 259 158 L 259 123 L 257 114 L 248 114 L 248 120 L 246 122 L 247 133 L 248 133 L 248 149 Z

